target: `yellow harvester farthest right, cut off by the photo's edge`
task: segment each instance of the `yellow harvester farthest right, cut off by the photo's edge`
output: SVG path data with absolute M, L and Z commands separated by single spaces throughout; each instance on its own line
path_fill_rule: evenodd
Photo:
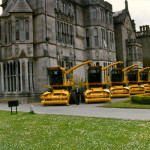
M 139 82 L 144 86 L 145 92 L 150 92 L 150 67 L 139 70 Z

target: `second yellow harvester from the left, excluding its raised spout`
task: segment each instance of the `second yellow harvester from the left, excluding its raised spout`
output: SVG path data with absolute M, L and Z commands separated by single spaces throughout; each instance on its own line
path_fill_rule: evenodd
M 82 102 L 101 102 L 108 101 L 110 99 L 109 89 L 104 89 L 104 84 L 102 83 L 102 67 L 101 66 L 89 66 L 87 69 L 87 89 L 81 92 Z

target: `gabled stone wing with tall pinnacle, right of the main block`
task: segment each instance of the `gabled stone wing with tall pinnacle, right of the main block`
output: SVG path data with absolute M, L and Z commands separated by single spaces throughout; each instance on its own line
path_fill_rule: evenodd
M 124 68 L 133 64 L 143 67 L 142 46 L 136 39 L 134 20 L 131 20 L 128 2 L 125 9 L 114 13 L 114 28 L 117 60 L 124 62 Z

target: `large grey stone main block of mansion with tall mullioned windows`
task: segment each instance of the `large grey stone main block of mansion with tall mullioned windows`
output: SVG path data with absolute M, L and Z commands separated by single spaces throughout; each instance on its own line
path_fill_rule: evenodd
M 1 95 L 43 93 L 48 67 L 116 62 L 112 5 L 104 0 L 2 0 L 1 6 Z M 85 80 L 86 67 L 75 77 Z

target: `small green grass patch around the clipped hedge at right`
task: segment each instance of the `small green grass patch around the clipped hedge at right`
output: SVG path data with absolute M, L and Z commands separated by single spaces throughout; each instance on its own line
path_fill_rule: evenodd
M 103 107 L 150 109 L 150 105 L 132 103 L 132 101 L 130 99 L 125 100 L 125 101 L 119 101 L 119 102 L 115 102 L 115 103 L 106 104 L 106 105 L 103 105 Z

